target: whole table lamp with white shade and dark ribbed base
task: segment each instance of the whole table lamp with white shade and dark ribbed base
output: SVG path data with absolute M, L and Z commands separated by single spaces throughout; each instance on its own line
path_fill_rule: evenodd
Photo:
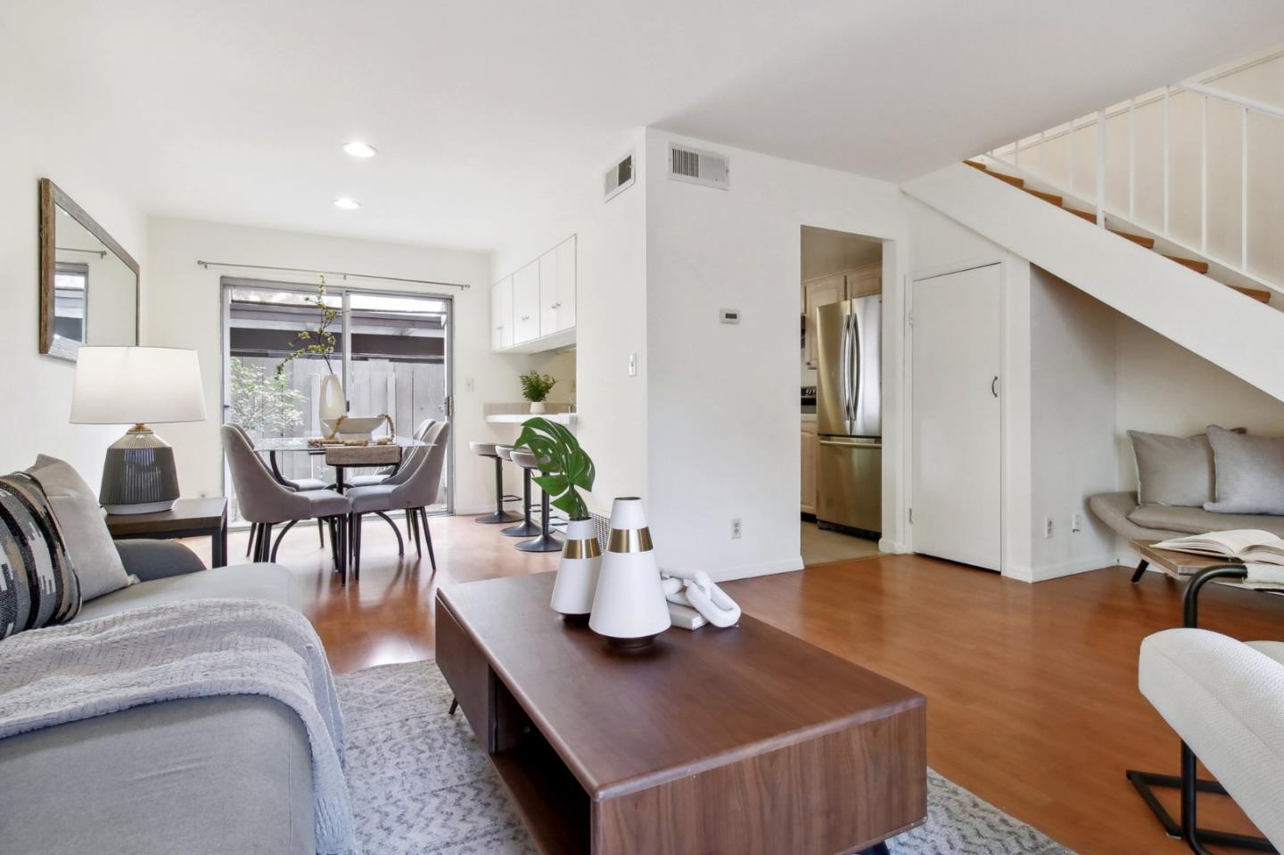
M 82 347 L 72 390 L 73 425 L 132 428 L 107 449 L 98 501 L 108 514 L 168 511 L 178 499 L 173 448 L 146 422 L 204 421 L 196 352 Z

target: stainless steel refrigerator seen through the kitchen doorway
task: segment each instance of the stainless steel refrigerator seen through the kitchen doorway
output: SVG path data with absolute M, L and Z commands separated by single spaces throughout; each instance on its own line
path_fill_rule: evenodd
M 882 297 L 815 308 L 817 521 L 882 531 Z

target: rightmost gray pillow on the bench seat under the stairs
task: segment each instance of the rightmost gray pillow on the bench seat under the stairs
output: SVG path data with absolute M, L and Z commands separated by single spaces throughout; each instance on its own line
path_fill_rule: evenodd
M 1215 501 L 1206 511 L 1217 514 L 1284 515 L 1284 439 L 1248 436 L 1208 426 L 1217 467 Z

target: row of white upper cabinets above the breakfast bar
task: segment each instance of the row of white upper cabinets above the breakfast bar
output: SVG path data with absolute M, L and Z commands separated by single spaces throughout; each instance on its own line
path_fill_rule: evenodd
M 490 348 L 538 353 L 575 341 L 575 238 L 490 289 Z

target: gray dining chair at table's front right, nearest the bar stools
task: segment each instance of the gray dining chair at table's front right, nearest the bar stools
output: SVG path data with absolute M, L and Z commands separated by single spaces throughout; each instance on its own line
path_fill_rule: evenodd
M 433 425 L 424 436 L 429 445 L 411 449 L 397 472 L 383 484 L 356 487 L 347 492 L 352 510 L 348 516 L 348 530 L 352 531 L 352 570 L 354 578 L 361 578 L 361 521 L 366 514 L 386 514 L 404 511 L 412 520 L 415 551 L 422 556 L 420 531 L 428 546 L 428 560 L 437 571 L 437 556 L 433 552 L 433 533 L 428 528 L 428 506 L 435 505 L 442 492 L 442 469 L 446 463 L 446 449 L 451 436 L 451 425 L 440 421 Z

